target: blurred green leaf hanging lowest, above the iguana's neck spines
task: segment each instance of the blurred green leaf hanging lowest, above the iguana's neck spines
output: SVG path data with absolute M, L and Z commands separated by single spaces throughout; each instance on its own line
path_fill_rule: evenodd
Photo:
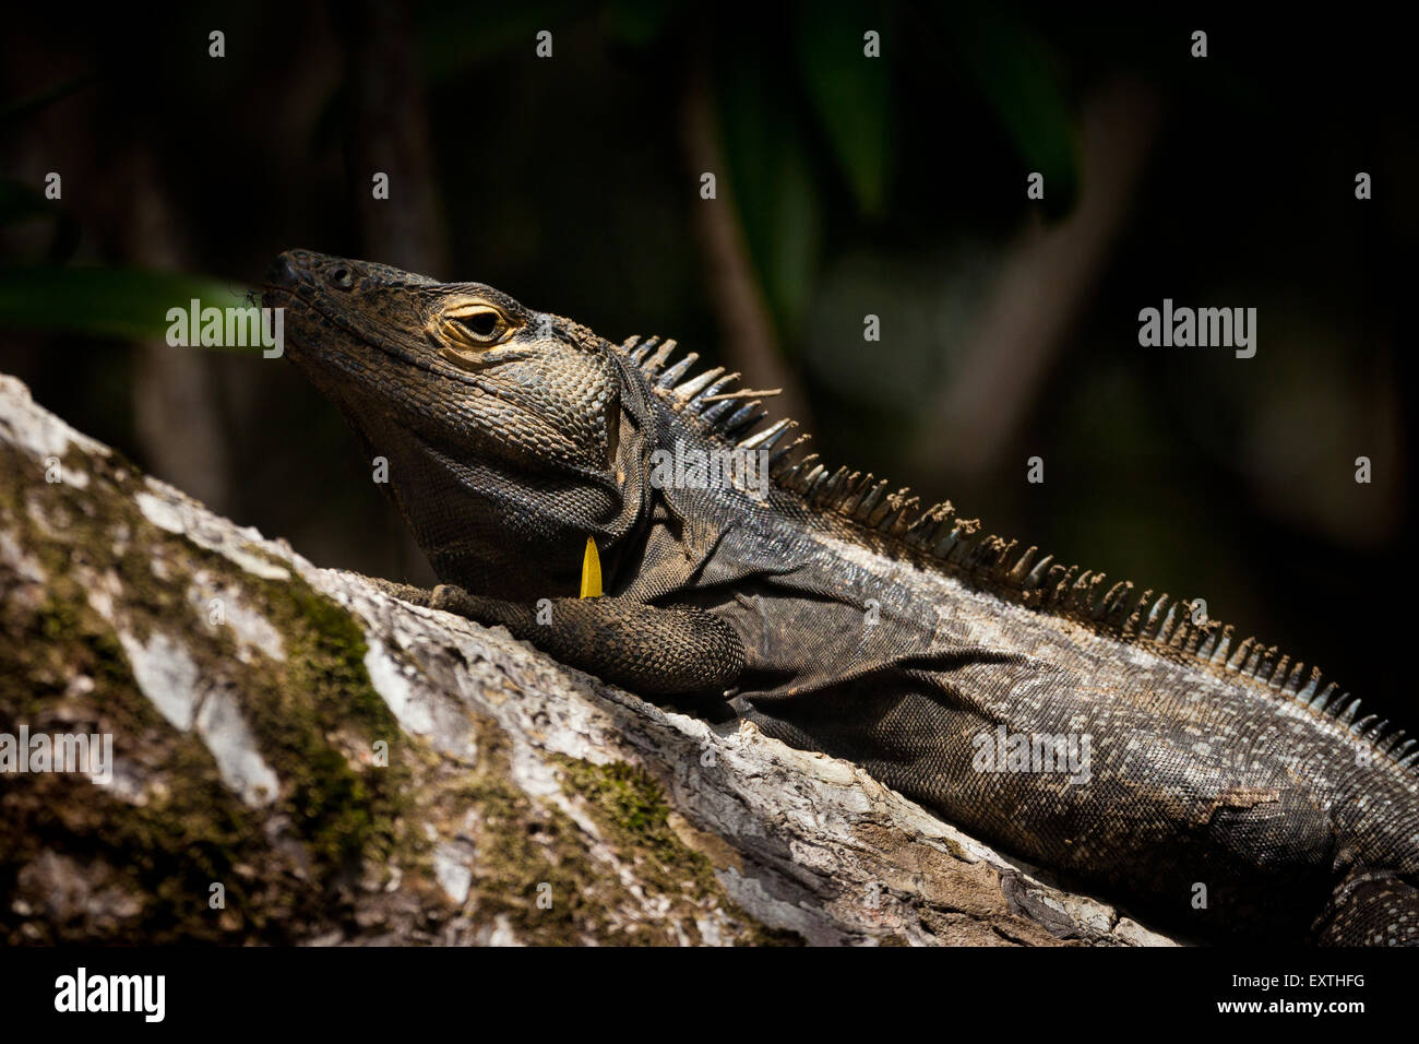
M 748 50 L 736 50 L 717 70 L 725 163 L 769 308 L 779 327 L 792 332 L 812 290 L 823 200 L 792 89 L 771 74 L 779 62 Z

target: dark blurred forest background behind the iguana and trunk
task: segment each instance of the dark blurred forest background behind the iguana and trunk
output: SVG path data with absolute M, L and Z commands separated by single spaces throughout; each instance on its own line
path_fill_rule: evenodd
M 1410 47 L 1385 16 L 643 0 L 6 17 L 0 371 L 315 562 L 430 580 L 288 362 L 162 342 L 193 287 L 226 304 L 295 246 L 490 283 L 616 341 L 675 337 L 782 384 L 776 410 L 829 463 L 1205 597 L 1419 724 L 1399 345 L 1419 179 Z M 1165 297 L 1256 307 L 1256 358 L 1141 348 L 1138 311 Z

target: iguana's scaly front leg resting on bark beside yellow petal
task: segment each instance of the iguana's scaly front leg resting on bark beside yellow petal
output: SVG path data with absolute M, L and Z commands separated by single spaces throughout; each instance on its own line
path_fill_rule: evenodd
M 643 696 L 722 696 L 744 669 L 744 646 L 734 628 L 691 607 L 551 598 L 539 611 L 451 584 L 436 587 L 427 605 L 502 625 L 561 662 Z

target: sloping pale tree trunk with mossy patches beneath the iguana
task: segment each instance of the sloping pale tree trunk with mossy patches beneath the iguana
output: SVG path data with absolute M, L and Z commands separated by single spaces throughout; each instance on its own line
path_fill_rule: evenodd
M 851 764 L 318 568 L 6 376 L 0 767 L 9 945 L 1168 942 Z

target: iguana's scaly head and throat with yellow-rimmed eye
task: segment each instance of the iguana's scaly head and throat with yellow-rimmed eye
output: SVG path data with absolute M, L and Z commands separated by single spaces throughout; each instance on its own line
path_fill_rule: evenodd
M 612 347 L 481 283 L 281 254 L 263 304 L 331 398 L 441 580 L 502 598 L 573 594 L 586 537 L 634 524 Z M 627 489 L 630 486 L 630 489 Z M 570 591 L 551 589 L 561 584 Z

